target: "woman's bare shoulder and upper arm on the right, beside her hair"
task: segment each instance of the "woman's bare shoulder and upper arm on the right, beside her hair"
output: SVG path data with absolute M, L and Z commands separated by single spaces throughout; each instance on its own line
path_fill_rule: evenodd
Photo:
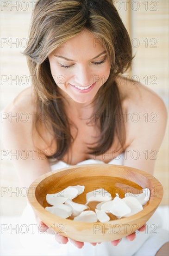
M 158 94 L 140 82 L 134 85 L 133 81 L 121 79 L 119 91 L 126 106 L 125 150 L 129 154 L 124 165 L 153 174 L 167 125 L 167 108 Z M 136 158 L 131 154 L 133 152 L 137 154 Z

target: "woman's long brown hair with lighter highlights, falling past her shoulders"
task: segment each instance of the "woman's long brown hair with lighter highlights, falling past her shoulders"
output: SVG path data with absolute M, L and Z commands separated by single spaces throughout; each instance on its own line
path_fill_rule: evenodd
M 49 158 L 61 159 L 74 138 L 65 114 L 63 96 L 50 72 L 49 54 L 84 29 L 101 41 L 111 71 L 94 97 L 94 113 L 89 119 L 100 129 L 95 146 L 88 154 L 101 155 L 118 136 L 120 151 L 125 145 L 125 124 L 115 78 L 131 67 L 132 47 L 129 35 L 112 0 L 38 0 L 32 15 L 30 38 L 24 51 L 33 77 L 38 113 L 47 116 L 55 136 L 57 150 Z M 37 114 L 36 129 L 40 134 Z M 45 136 L 40 134 L 44 141 Z M 91 145 L 91 144 L 89 144 Z M 117 147 L 119 147 L 119 145 Z M 121 150 L 122 149 L 122 150 Z

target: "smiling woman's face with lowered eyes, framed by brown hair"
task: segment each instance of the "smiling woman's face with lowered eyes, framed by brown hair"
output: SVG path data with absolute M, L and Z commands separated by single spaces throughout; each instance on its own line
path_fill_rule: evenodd
M 64 42 L 48 57 L 56 85 L 63 95 L 78 103 L 92 101 L 110 74 L 102 42 L 86 30 Z

